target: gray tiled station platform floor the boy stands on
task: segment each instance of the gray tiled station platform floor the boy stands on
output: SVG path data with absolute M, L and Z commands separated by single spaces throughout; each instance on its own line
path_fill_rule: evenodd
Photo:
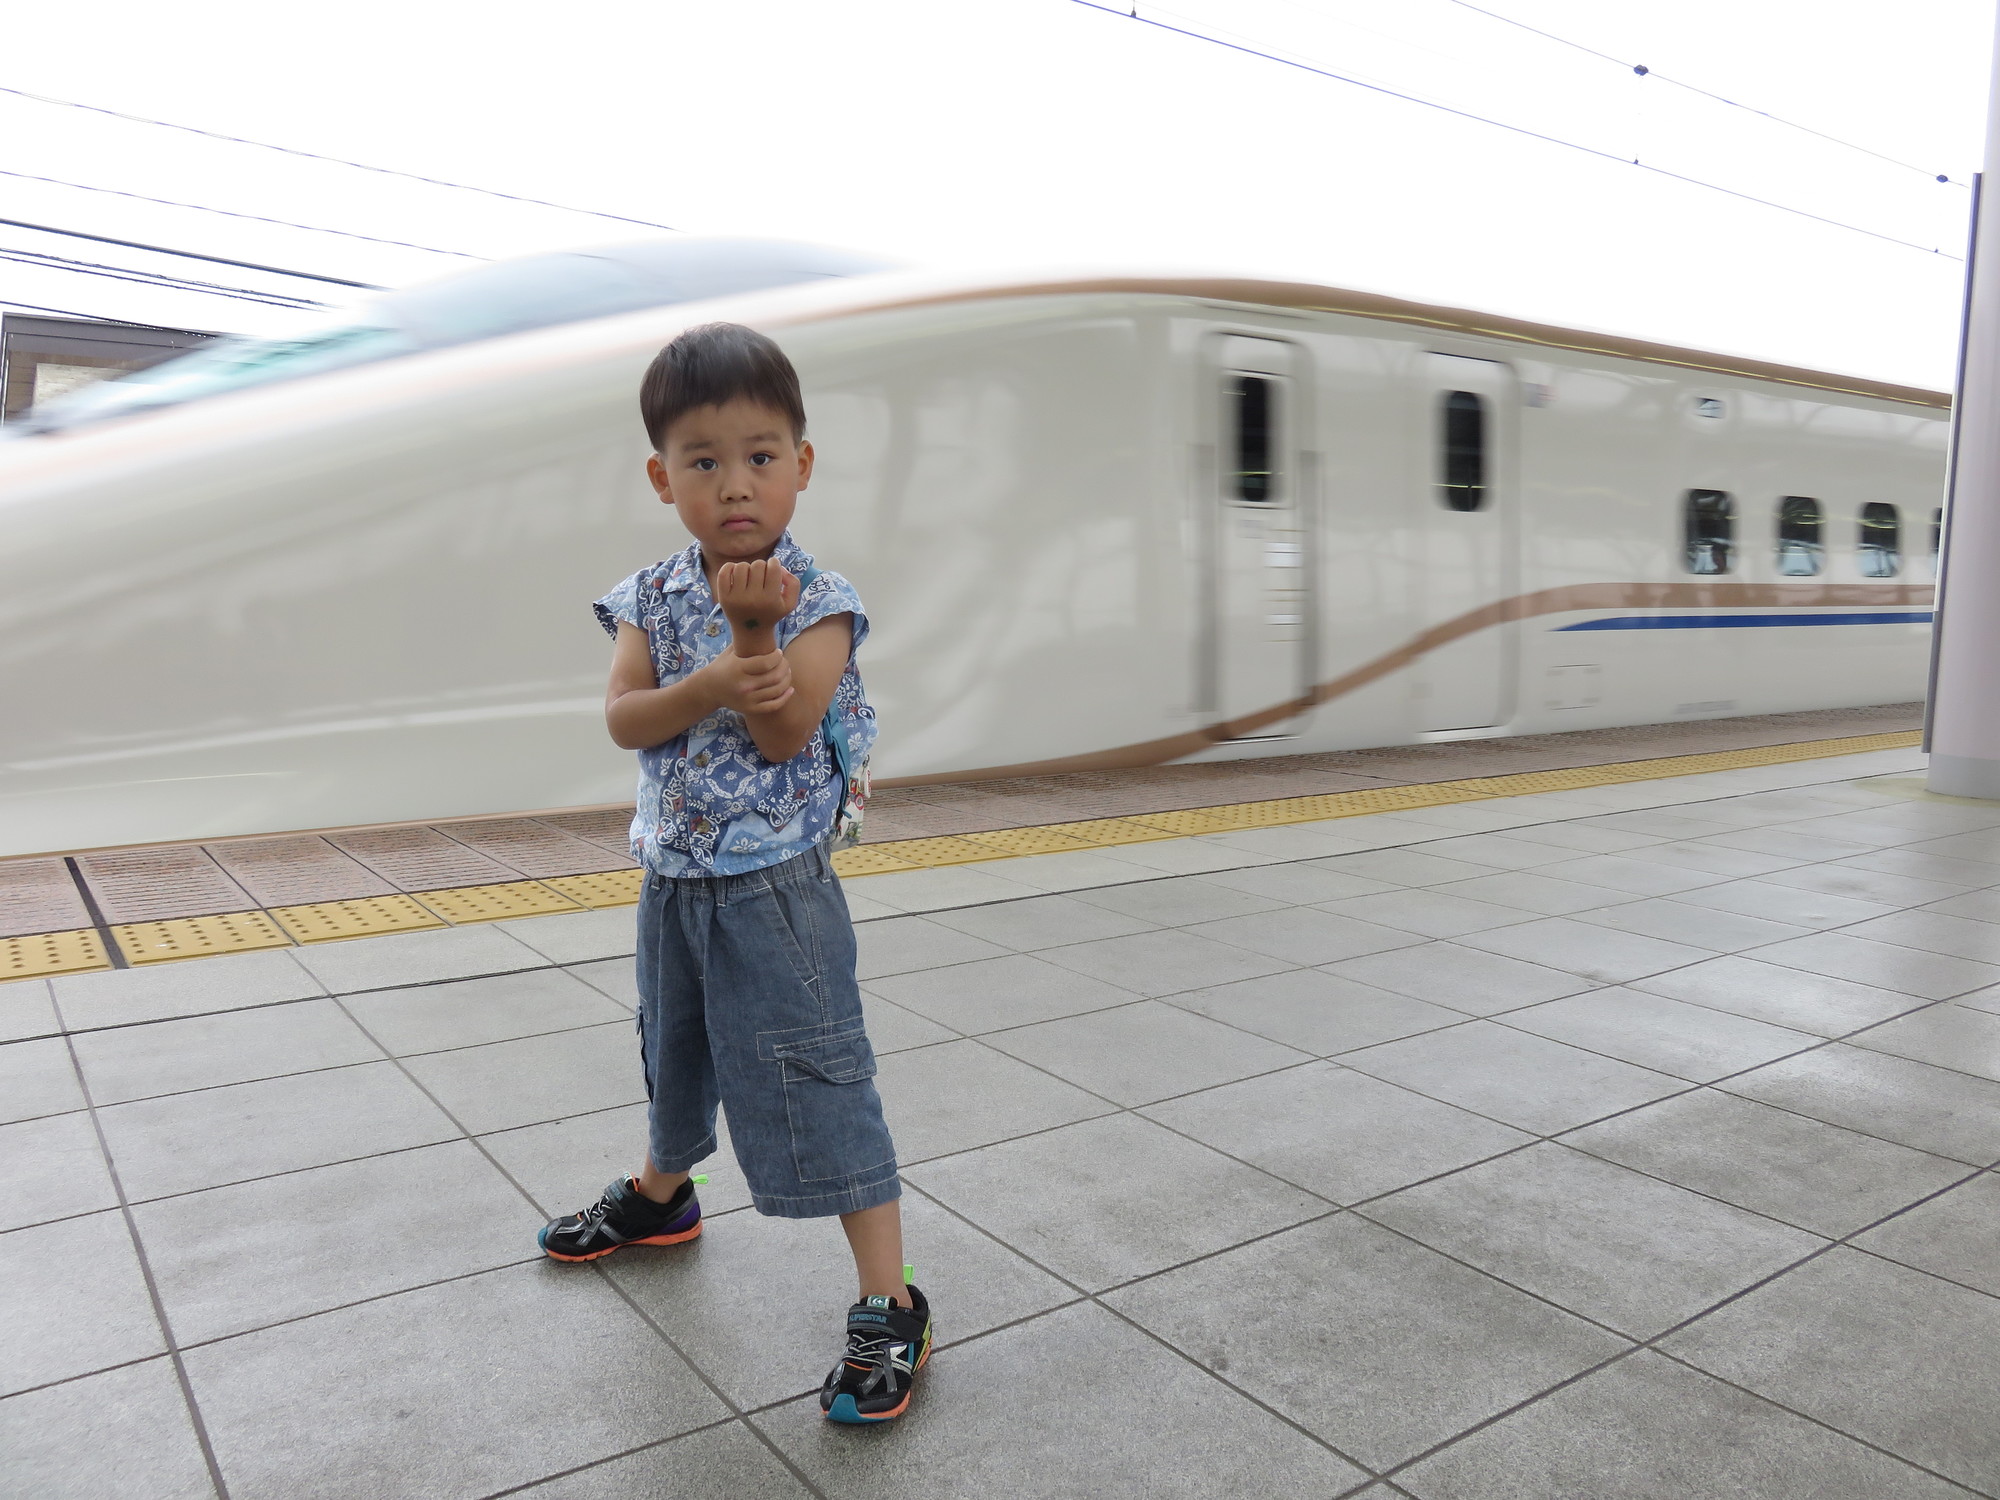
M 0 1490 L 1996 1496 L 2000 806 L 1908 738 L 850 878 L 890 1430 L 726 1154 L 694 1244 L 536 1254 L 642 1148 L 628 908 L 0 984 Z

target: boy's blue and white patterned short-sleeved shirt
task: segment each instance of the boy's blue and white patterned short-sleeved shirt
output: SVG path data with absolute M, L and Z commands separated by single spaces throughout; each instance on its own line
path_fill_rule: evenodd
M 812 566 L 790 532 L 778 538 L 772 558 L 794 576 Z M 646 632 L 662 688 L 730 650 L 730 622 L 702 576 L 700 544 L 632 574 L 594 608 L 612 638 L 620 620 Z M 834 614 L 854 616 L 854 650 L 860 650 L 868 616 L 854 586 L 836 572 L 814 578 L 778 622 L 780 650 Z M 858 762 L 874 744 L 876 726 L 852 652 L 834 688 L 834 710 Z M 826 838 L 842 792 L 822 730 L 796 756 L 774 764 L 756 748 L 742 714 L 718 708 L 666 744 L 638 752 L 632 858 L 674 880 L 762 870 Z

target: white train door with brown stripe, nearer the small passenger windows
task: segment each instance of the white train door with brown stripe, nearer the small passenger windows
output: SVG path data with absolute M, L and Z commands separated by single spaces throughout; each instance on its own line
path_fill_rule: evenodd
M 1418 730 L 1504 724 L 1514 710 L 1516 626 L 1498 618 L 1518 592 L 1514 372 L 1498 360 L 1430 354 L 1424 380 L 1426 474 Z

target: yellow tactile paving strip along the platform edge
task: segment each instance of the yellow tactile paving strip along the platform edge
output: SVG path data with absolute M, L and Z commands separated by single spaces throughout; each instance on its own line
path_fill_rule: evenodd
M 834 868 L 844 876 L 930 870 L 978 860 L 1010 860 L 1030 854 L 1146 844 L 1158 838 L 1186 838 L 1190 834 L 1222 834 L 1244 828 L 1322 822 L 1326 818 L 1358 818 L 1370 812 L 1442 808 L 1452 802 L 1484 802 L 1500 796 L 1568 792 L 1580 786 L 1616 786 L 1620 782 L 1700 776 L 1702 772 L 1738 770 L 1744 766 L 1780 766 L 1794 760 L 1856 756 L 1868 750 L 1906 750 L 1920 740 L 1922 736 L 1914 730 L 1856 734 L 1842 740 L 1802 740 L 1798 744 L 1772 744 L 1754 750 L 1714 750 L 1696 756 L 1624 760 L 1608 766 L 1530 770 L 1514 776 L 1470 776 L 1456 782 L 1382 786 L 1364 792 L 1284 796 L 1264 802 L 1234 802 L 1218 808 L 1140 812 L 1130 818 L 1086 818 L 1082 822 L 1054 822 L 1036 828 L 1000 828 L 986 834 L 902 838 L 888 844 L 864 844 L 842 850 L 834 856 Z M 642 874 L 638 870 L 610 870 L 604 874 L 552 876 L 548 880 L 510 880 L 496 886 L 420 890 L 412 896 L 370 896 L 312 906 L 278 906 L 270 912 L 252 910 L 222 916 L 184 916 L 164 922 L 128 922 L 114 926 L 110 932 L 128 964 L 164 964 L 178 958 L 338 942 L 342 938 L 366 938 L 382 932 L 412 932 L 464 922 L 542 916 L 548 912 L 634 906 L 638 902 L 640 880 Z M 90 928 L 42 932 L 30 938 L 0 938 L 0 980 L 80 974 L 96 968 L 112 968 L 112 960 L 104 950 L 102 938 Z

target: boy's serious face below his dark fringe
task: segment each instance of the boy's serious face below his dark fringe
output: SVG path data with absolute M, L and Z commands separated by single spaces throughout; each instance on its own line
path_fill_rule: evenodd
M 666 430 L 646 478 L 702 544 L 702 560 L 768 558 L 812 478 L 812 444 L 782 412 L 738 398 L 698 406 Z

